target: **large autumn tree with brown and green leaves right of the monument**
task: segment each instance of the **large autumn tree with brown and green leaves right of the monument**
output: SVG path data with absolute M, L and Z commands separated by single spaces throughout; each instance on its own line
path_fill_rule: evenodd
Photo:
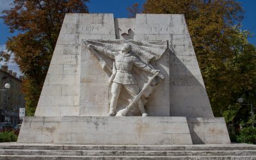
M 147 0 L 143 13 L 184 14 L 215 116 L 223 116 L 241 96 L 256 99 L 255 46 L 247 41 L 250 33 L 241 31 L 244 11 L 239 3 Z

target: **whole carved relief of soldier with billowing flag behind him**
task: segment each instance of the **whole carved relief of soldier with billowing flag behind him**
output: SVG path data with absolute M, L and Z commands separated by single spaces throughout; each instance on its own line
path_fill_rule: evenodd
M 144 104 L 164 79 L 150 63 L 161 58 L 167 42 L 84 40 L 84 44 L 96 56 L 102 69 L 111 72 L 109 90 L 112 97 L 108 115 L 147 116 Z

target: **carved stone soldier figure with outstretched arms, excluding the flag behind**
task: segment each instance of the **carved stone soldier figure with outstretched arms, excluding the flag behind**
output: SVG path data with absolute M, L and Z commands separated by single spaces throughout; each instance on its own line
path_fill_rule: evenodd
M 125 90 L 127 90 L 127 92 L 134 99 L 129 104 L 129 108 L 132 105 L 137 104 L 141 116 L 147 116 L 143 100 L 141 100 L 141 93 L 140 89 L 138 88 L 138 82 L 136 82 L 134 76 L 132 76 L 132 67 L 138 67 L 151 75 L 156 75 L 164 78 L 163 75 L 159 72 L 159 70 L 156 70 L 148 63 L 141 61 L 138 58 L 138 56 L 136 56 L 136 54 L 132 52 L 132 46 L 130 44 L 122 45 L 120 51 L 117 52 L 110 51 L 106 47 L 100 47 L 92 44 L 86 45 L 88 49 L 90 49 L 90 51 L 97 51 L 100 54 L 104 54 L 105 56 L 114 60 L 113 72 L 111 77 L 109 78 L 109 83 L 111 84 L 112 97 L 110 101 L 108 116 L 116 115 L 116 104 L 122 88 L 125 88 Z M 128 108 L 126 108 L 126 111 L 117 114 L 117 116 L 125 116 L 127 114 L 127 111 L 129 111 Z

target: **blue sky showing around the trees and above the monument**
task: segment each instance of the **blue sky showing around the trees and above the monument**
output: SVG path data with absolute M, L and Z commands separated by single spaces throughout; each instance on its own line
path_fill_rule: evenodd
M 10 3 L 13 0 L 0 0 L 0 12 L 10 8 Z M 146 0 L 90 0 L 90 3 L 87 3 L 90 13 L 114 13 L 116 18 L 125 18 L 128 15 L 127 6 L 131 6 L 134 3 L 143 4 Z M 156 0 L 157 1 L 157 0 Z M 253 33 L 254 37 L 249 38 L 249 41 L 256 45 L 256 1 L 255 0 L 238 0 L 241 2 L 245 10 L 245 18 L 243 20 L 243 29 L 249 30 Z M 17 33 L 15 33 L 17 34 Z M 11 37 L 15 34 L 9 32 L 8 26 L 4 25 L 2 19 L 0 19 L 0 51 L 4 51 L 5 42 L 8 40 L 8 37 Z M 3 62 L 0 62 L 0 65 Z M 9 68 L 19 73 L 19 69 L 10 61 L 8 63 Z

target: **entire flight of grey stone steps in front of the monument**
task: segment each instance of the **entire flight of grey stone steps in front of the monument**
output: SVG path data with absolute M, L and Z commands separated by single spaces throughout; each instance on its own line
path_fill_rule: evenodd
M 0 143 L 1 159 L 256 160 L 256 145 L 53 145 Z

